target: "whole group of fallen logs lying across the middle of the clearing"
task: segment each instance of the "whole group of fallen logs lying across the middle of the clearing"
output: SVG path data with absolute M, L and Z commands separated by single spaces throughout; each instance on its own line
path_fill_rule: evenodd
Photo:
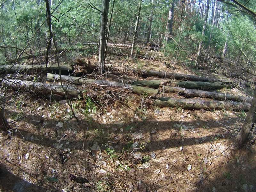
M 87 64 L 82 60 L 77 60 L 80 66 L 85 66 L 87 71 L 97 70 L 91 64 Z M 87 64 L 87 65 L 86 65 Z M 101 87 L 103 89 L 112 90 L 127 90 L 135 94 L 147 94 L 151 96 L 154 101 L 154 105 L 159 107 L 182 107 L 185 109 L 225 109 L 235 111 L 247 111 L 250 107 L 251 98 L 239 95 L 224 94 L 220 92 L 214 92 L 214 90 L 227 88 L 230 89 L 234 85 L 231 82 L 221 82 L 217 79 L 200 77 L 195 75 L 185 75 L 178 73 L 164 73 L 159 71 L 130 71 L 140 76 L 154 76 L 154 77 L 165 77 L 165 79 L 142 79 L 142 80 L 127 80 L 121 79 L 119 81 L 109 81 L 105 79 L 92 79 L 68 75 L 59 75 L 54 73 L 60 73 L 65 71 L 68 74 L 74 72 L 73 66 L 61 65 L 50 65 L 47 68 L 43 65 L 5 65 L 0 66 L 0 73 L 16 73 L 29 71 L 30 73 L 36 73 L 36 70 L 47 71 L 47 80 L 52 82 L 61 81 L 63 86 L 57 83 L 45 83 L 17 80 L 17 79 L 1 79 L 2 86 L 10 86 L 13 89 L 20 89 L 24 87 L 44 94 L 57 94 L 64 96 L 65 94 L 69 97 L 81 96 L 81 85 Z M 121 74 L 121 70 L 114 70 L 114 74 Z M 124 72 L 124 70 L 123 70 Z M 63 74 L 63 73 L 62 73 Z M 45 79 L 45 78 L 44 78 Z M 175 80 L 173 80 L 175 79 Z M 117 81 L 117 82 L 116 82 Z M 183 98 L 174 97 L 160 97 L 160 94 L 166 93 L 177 93 Z M 196 98 L 195 98 L 196 97 Z M 209 98 L 207 100 L 198 98 Z

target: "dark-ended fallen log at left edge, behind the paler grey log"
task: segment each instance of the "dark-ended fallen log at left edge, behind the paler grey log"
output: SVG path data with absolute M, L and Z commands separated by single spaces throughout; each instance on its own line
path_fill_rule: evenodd
M 0 66 L 0 73 L 5 73 L 8 71 L 8 73 L 16 73 L 16 72 L 34 72 L 35 70 L 45 70 L 46 66 L 45 65 L 2 65 Z M 73 72 L 73 67 L 70 65 L 60 65 L 60 70 L 63 73 L 72 73 Z M 54 65 L 48 65 L 47 66 L 47 72 L 57 72 L 59 73 L 59 67 L 57 64 Z

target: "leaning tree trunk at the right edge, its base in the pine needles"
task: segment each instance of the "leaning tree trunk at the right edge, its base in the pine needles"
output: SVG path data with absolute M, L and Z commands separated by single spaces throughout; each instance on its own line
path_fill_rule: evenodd
M 241 127 L 239 134 L 236 137 L 238 148 L 242 148 L 249 139 L 249 133 L 255 127 L 256 124 L 256 89 L 253 94 L 251 107 L 244 120 L 244 124 Z

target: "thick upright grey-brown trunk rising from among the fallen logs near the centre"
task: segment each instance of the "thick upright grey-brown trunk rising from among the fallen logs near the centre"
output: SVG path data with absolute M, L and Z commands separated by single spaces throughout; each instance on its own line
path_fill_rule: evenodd
M 110 0 L 103 0 L 103 8 L 100 21 L 100 49 L 99 49 L 99 71 L 102 74 L 104 72 L 104 58 L 105 48 L 107 41 L 107 22 L 108 22 L 108 8 Z

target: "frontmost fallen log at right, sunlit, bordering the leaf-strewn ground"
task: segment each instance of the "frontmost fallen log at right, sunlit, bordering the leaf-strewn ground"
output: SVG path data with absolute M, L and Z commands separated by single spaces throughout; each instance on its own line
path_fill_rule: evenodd
M 233 110 L 248 111 L 250 103 L 216 101 L 216 100 L 199 100 L 199 99 L 178 99 L 171 97 L 153 98 L 154 104 L 159 107 L 181 107 L 184 109 L 206 109 L 206 110 Z

